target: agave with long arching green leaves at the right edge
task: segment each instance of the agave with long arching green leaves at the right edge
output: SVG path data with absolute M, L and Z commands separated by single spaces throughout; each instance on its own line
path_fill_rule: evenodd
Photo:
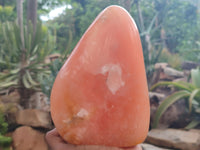
M 157 127 L 160 117 L 169 106 L 180 99 L 188 101 L 188 110 L 191 114 L 192 121 L 185 127 L 186 129 L 194 128 L 200 124 L 200 69 L 191 70 L 192 82 L 158 82 L 151 87 L 151 90 L 158 86 L 173 86 L 177 89 L 176 92 L 168 96 L 158 107 L 153 127 Z

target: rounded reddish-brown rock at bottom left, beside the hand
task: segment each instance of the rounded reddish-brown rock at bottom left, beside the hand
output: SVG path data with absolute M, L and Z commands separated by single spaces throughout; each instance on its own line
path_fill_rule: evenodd
M 48 150 L 44 139 L 44 133 L 40 133 L 31 127 L 17 128 L 12 135 L 13 148 L 15 150 Z

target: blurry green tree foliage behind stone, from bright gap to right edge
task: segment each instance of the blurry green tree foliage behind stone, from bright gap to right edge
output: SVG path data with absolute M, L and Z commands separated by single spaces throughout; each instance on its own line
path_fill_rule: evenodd
M 127 9 L 140 31 L 149 79 L 152 76 L 154 64 L 159 61 L 164 47 L 173 55 L 179 53 L 176 55 L 178 59 L 173 55 L 167 59 L 171 63 L 170 65 L 175 68 L 180 68 L 181 57 L 189 60 L 200 60 L 200 48 L 197 44 L 200 38 L 198 34 L 200 31 L 199 11 L 197 5 L 190 1 L 63 0 L 61 3 L 70 4 L 72 8 L 67 8 L 65 13 L 47 22 L 50 29 L 53 32 L 56 31 L 57 50 L 61 53 L 66 50 L 70 52 L 74 48 L 95 17 L 105 7 L 120 5 L 126 8 L 126 4 L 129 3 Z M 140 20 L 141 16 L 143 21 Z M 146 40 L 148 37 L 149 43 Z M 196 52 L 191 52 L 195 50 Z M 164 56 L 162 55 L 162 57 Z

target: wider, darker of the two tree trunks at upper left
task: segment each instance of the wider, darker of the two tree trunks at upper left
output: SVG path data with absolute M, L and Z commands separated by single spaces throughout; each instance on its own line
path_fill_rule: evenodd
M 37 0 L 28 0 L 27 2 L 27 25 L 29 22 L 33 25 L 33 33 L 35 36 L 37 26 Z

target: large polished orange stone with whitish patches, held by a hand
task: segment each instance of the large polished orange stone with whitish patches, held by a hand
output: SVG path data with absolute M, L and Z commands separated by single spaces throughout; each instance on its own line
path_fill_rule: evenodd
M 129 147 L 146 138 L 149 98 L 134 20 L 119 6 L 103 10 L 58 73 L 54 124 L 71 144 Z

